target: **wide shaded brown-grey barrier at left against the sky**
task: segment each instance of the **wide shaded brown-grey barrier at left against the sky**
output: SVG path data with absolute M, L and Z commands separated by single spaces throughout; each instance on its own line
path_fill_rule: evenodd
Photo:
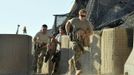
M 0 34 L 0 75 L 31 75 L 32 37 Z

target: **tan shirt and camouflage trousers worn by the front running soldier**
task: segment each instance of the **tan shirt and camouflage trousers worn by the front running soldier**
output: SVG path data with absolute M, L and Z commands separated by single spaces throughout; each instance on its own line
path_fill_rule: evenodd
M 69 20 L 72 25 L 72 41 L 74 45 L 72 49 L 74 50 L 74 56 L 69 60 L 69 63 L 74 63 L 76 70 L 81 70 L 80 57 L 84 53 L 84 46 L 90 46 L 90 34 L 92 28 L 89 21 L 85 20 L 83 22 L 79 21 L 79 18 L 73 18 Z

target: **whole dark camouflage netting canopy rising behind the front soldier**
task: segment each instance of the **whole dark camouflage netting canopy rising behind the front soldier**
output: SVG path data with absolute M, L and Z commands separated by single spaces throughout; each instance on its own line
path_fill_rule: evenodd
M 54 31 L 57 32 L 56 27 L 65 25 L 68 19 L 77 17 L 81 8 L 87 9 L 87 19 L 93 24 L 95 30 L 100 30 L 104 27 L 113 28 L 126 23 L 128 18 L 126 16 L 134 11 L 134 0 L 75 0 L 69 13 L 55 17 Z M 57 20 L 57 18 L 63 19 Z

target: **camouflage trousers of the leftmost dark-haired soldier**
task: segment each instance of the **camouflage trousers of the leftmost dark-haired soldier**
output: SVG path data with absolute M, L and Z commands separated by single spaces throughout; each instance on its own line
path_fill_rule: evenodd
M 47 48 L 36 48 L 34 52 L 34 60 L 33 60 L 33 70 L 34 72 L 41 73 L 41 69 L 43 66 L 44 56 L 46 54 Z

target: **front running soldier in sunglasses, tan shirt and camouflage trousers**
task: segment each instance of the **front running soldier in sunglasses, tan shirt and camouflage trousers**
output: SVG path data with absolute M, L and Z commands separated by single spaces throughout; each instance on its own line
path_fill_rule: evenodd
M 93 33 L 90 22 L 86 19 L 87 11 L 81 9 L 78 18 L 72 18 L 67 21 L 65 30 L 74 42 L 72 49 L 74 56 L 69 60 L 69 71 L 71 72 L 72 63 L 74 64 L 76 75 L 81 74 L 81 63 L 79 58 L 84 53 L 84 46 L 90 46 L 90 36 Z

